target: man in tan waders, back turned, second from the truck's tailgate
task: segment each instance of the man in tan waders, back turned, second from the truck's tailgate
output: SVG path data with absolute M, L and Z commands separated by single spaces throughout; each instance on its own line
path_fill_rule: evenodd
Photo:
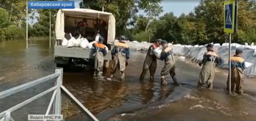
M 124 40 L 125 36 L 121 36 L 119 42 L 114 46 L 111 51 L 113 65 L 110 78 L 113 78 L 116 69 L 119 68 L 119 72 L 121 74 L 121 81 L 124 80 L 125 67 L 128 65 L 128 59 L 130 58 L 129 46 L 125 43 Z

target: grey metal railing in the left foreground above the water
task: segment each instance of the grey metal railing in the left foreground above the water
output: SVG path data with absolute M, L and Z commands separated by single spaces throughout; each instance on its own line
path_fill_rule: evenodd
M 7 96 L 10 96 L 14 93 L 17 93 L 17 92 L 20 92 L 24 89 L 28 89 L 30 87 L 33 87 L 37 84 L 40 84 L 40 83 L 43 83 L 43 82 L 46 82 L 46 81 L 49 81 L 51 79 L 54 79 L 56 78 L 56 81 L 55 81 L 55 86 L 50 88 L 50 89 L 47 89 L 46 91 L 36 95 L 36 96 L 33 96 L 31 97 L 30 99 L 22 102 L 22 103 L 19 103 L 15 106 L 13 106 L 12 108 L 9 108 L 8 110 L 5 110 L 3 112 L 0 113 L 0 121 L 14 121 L 14 119 L 11 117 L 11 112 L 14 111 L 14 110 L 17 110 L 19 109 L 20 107 L 36 100 L 37 98 L 41 97 L 41 96 L 44 96 L 45 94 L 49 93 L 49 92 L 53 92 L 52 94 L 52 98 L 51 98 L 51 101 L 49 103 L 49 106 L 47 108 L 47 111 L 45 113 L 45 115 L 49 115 L 49 112 L 51 110 L 51 107 L 52 107 L 52 103 L 53 103 L 53 113 L 55 115 L 60 115 L 61 114 L 61 93 L 63 93 L 65 96 L 68 97 L 68 99 L 76 104 L 76 106 L 81 110 L 81 112 L 85 113 L 85 115 L 87 115 L 88 117 L 91 118 L 91 120 L 94 120 L 94 121 L 98 121 L 98 119 L 92 115 L 92 113 L 86 109 L 84 107 L 84 105 L 82 103 L 80 103 L 75 96 L 73 96 L 69 91 L 68 89 L 66 89 L 63 85 L 62 85 L 62 78 L 63 78 L 63 69 L 62 68 L 57 68 L 55 69 L 55 73 L 54 74 L 51 74 L 51 75 L 47 75 L 47 76 L 44 76 L 42 78 L 39 78 L 37 80 L 34 80 L 34 81 L 31 81 L 31 82 L 28 82 L 28 83 L 25 83 L 25 84 L 22 84 L 20 86 L 17 86 L 17 87 L 14 87 L 14 88 L 11 88 L 11 89 L 7 89 L 5 91 L 2 91 L 0 92 L 0 99 L 4 98 L 4 97 L 7 97 Z M 2 118 L 1 118 L 2 117 Z

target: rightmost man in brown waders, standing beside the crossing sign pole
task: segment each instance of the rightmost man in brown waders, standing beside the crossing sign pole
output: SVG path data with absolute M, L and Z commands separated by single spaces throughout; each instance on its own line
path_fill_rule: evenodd
M 245 62 L 242 56 L 242 49 L 236 49 L 236 54 L 231 57 L 231 91 L 234 91 L 236 86 L 236 93 L 243 93 L 244 83 L 244 69 Z M 228 75 L 229 76 L 229 75 Z M 227 90 L 229 90 L 229 78 L 227 81 Z

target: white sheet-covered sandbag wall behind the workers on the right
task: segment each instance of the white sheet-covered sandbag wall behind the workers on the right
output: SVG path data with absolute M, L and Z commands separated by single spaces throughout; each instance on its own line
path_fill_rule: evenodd
M 203 55 L 206 52 L 206 48 L 203 47 L 177 47 L 174 48 L 173 53 L 176 56 L 184 56 L 193 62 L 200 62 L 203 59 Z M 241 48 L 241 47 L 239 47 Z M 252 63 L 251 66 L 245 69 L 245 75 L 251 78 L 256 76 L 256 53 L 255 49 L 243 47 L 243 58 L 246 62 Z M 218 68 L 228 69 L 228 46 L 214 46 L 214 51 L 220 56 L 221 64 Z M 231 47 L 231 56 L 235 54 L 236 47 Z

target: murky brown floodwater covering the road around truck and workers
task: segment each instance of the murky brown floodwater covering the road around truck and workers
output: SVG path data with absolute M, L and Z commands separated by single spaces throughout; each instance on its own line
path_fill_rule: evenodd
M 54 73 L 53 48 L 49 41 L 0 43 L 0 91 Z M 158 62 L 155 82 L 139 81 L 145 52 L 132 51 L 125 81 L 119 82 L 118 71 L 113 81 L 93 80 L 92 71 L 69 72 L 63 85 L 100 120 L 256 120 L 256 82 L 246 79 L 244 95 L 228 95 L 227 72 L 217 70 L 214 89 L 196 89 L 200 67 L 176 57 L 176 74 L 181 86 L 160 85 L 163 62 Z M 110 69 L 110 68 L 109 68 Z M 109 76 L 110 70 L 104 74 Z M 149 73 L 149 72 L 148 72 Z M 0 99 L 0 112 L 49 89 L 54 80 Z M 52 93 L 14 111 L 14 120 L 27 120 L 28 114 L 44 114 Z M 62 96 L 62 113 L 66 120 L 87 117 Z

